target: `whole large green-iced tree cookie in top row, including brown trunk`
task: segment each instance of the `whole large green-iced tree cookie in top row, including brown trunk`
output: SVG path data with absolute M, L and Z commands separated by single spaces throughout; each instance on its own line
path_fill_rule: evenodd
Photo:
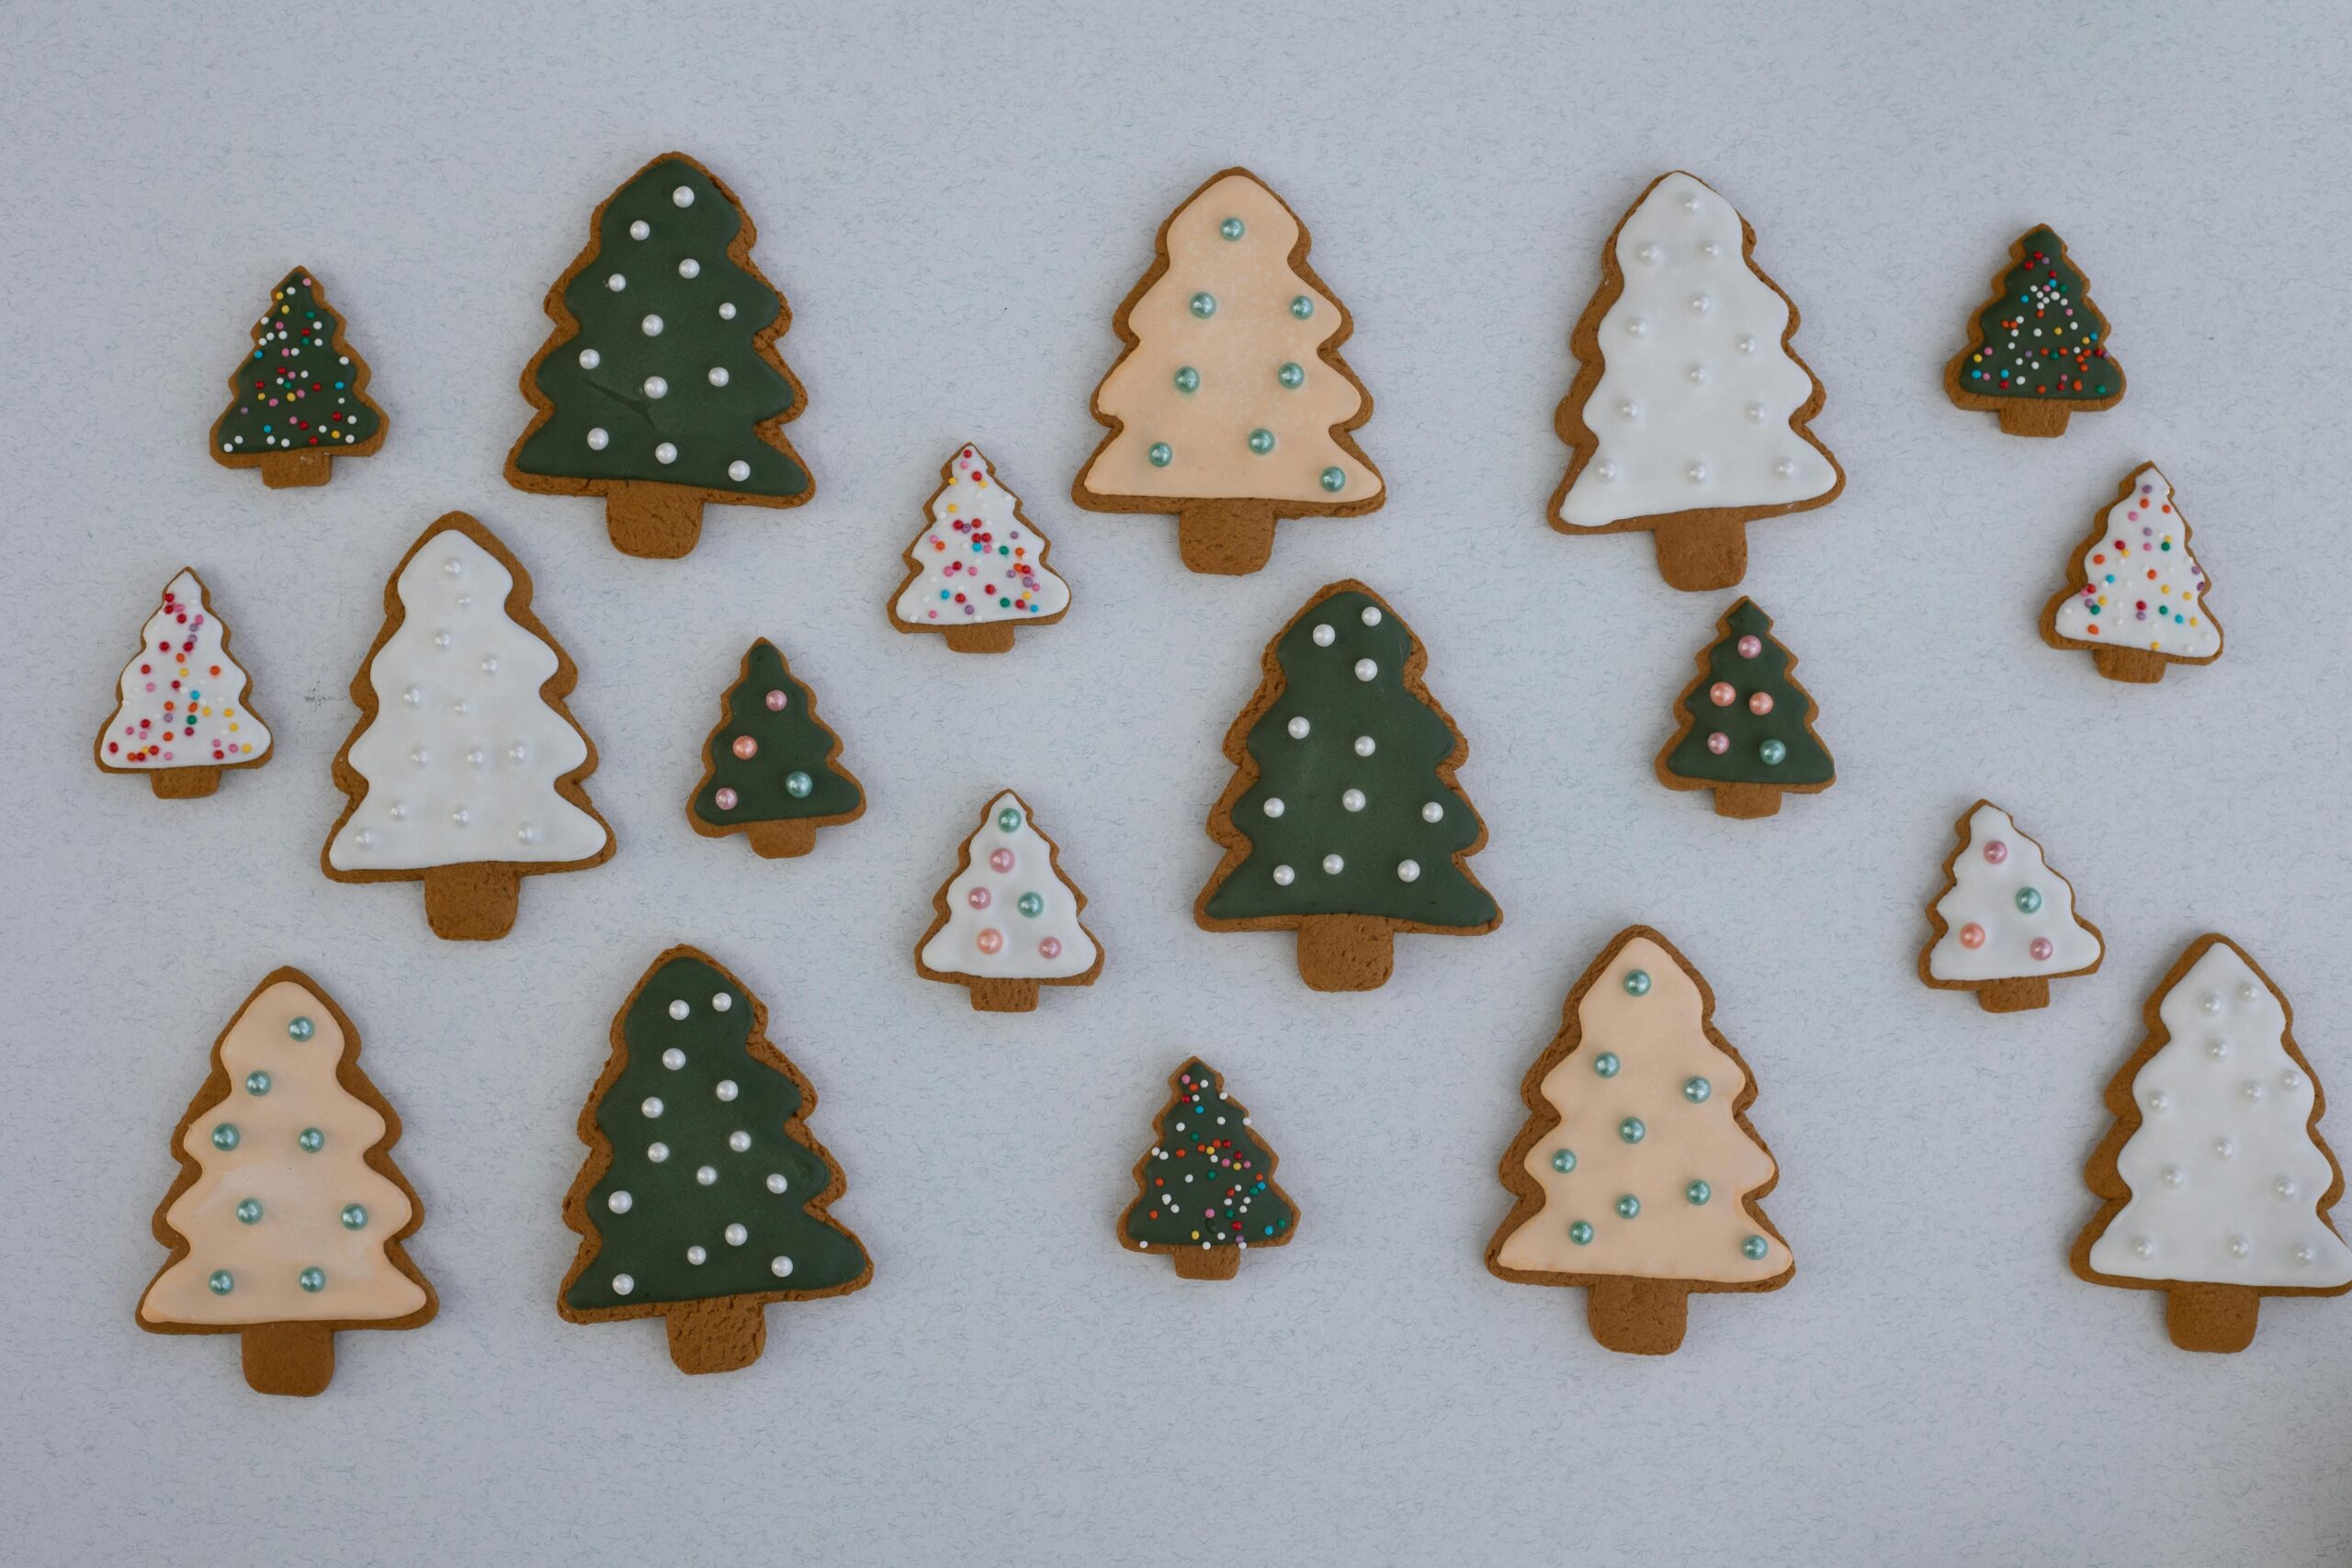
M 684 153 L 604 197 L 548 289 L 555 331 L 522 367 L 536 414 L 506 482 L 604 496 L 623 555 L 677 557 L 703 503 L 800 505 L 816 494 L 783 437 L 807 395 L 776 353 L 793 324 L 760 266 L 750 214 Z

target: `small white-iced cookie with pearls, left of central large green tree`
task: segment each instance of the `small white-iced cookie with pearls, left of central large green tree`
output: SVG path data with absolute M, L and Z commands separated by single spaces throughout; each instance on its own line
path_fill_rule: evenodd
M 1011 790 L 981 811 L 931 907 L 915 973 L 969 987 L 981 1013 L 1028 1013 L 1040 985 L 1094 985 L 1103 973 L 1103 950 L 1077 919 L 1087 896 L 1061 875 L 1061 849 Z

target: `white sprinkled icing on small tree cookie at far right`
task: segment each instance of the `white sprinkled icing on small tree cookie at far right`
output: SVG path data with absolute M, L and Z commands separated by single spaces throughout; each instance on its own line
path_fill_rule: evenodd
M 2082 592 L 2058 602 L 2060 637 L 2173 658 L 2220 654 L 2190 524 L 2173 510 L 2173 487 L 2154 463 L 2100 517 L 2100 536 L 2082 552 Z

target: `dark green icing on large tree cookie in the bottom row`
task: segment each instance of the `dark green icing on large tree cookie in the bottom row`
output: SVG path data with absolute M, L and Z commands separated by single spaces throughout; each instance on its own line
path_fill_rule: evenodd
M 722 994 L 727 1011 L 713 1006 Z M 684 1018 L 670 1016 L 673 1001 L 687 1004 Z M 866 1272 L 856 1237 L 807 1208 L 833 1168 L 786 1133 L 802 1112 L 800 1086 L 753 1058 L 750 1025 L 753 999 L 694 957 L 670 959 L 637 990 L 621 1020 L 628 1063 L 595 1103 L 595 1124 L 612 1140 L 612 1166 L 588 1194 L 597 1251 L 567 1305 L 593 1312 L 823 1291 Z M 684 1053 L 677 1067 L 663 1065 L 673 1048 Z M 722 1100 L 729 1081 L 734 1098 Z M 661 1100 L 659 1117 L 644 1114 L 647 1098 Z M 750 1145 L 729 1147 L 734 1133 Z M 666 1159 L 649 1159 L 654 1143 L 668 1147 Z M 696 1180 L 703 1166 L 717 1173 L 710 1185 Z M 771 1192 L 769 1175 L 783 1175 L 786 1190 Z M 621 1211 L 616 1192 L 628 1194 Z M 741 1244 L 727 1241 L 729 1225 L 748 1232 Z M 703 1262 L 687 1260 L 689 1246 L 703 1248 Z M 790 1258 L 793 1272 L 776 1274 L 774 1258 Z M 616 1274 L 633 1276 L 628 1295 L 612 1288 Z

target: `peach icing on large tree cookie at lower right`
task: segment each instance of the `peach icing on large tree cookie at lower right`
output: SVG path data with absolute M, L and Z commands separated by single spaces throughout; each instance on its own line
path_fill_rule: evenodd
M 1651 983 L 1642 997 L 1625 990 L 1637 969 Z M 1576 1004 L 1581 1044 L 1543 1074 L 1541 1093 L 1559 1126 L 1526 1150 L 1524 1166 L 1543 1190 L 1543 1208 L 1503 1239 L 1496 1262 L 1529 1274 L 1710 1284 L 1771 1279 L 1790 1267 L 1788 1246 L 1740 1201 L 1776 1171 L 1731 1114 L 1748 1074 L 1715 1048 L 1700 1018 L 1698 980 L 1658 943 L 1637 936 L 1618 950 Z M 1602 1053 L 1618 1058 L 1613 1077 L 1595 1072 Z M 1684 1093 L 1691 1079 L 1708 1081 L 1705 1100 Z M 1628 1117 L 1642 1121 L 1639 1143 L 1621 1131 Z M 1555 1166 L 1562 1150 L 1576 1157 L 1571 1171 Z M 1708 1182 L 1705 1204 L 1689 1199 L 1693 1180 Z M 1630 1220 L 1616 1208 L 1628 1194 L 1642 1204 Z M 1569 1237 L 1578 1220 L 1592 1225 L 1590 1244 Z M 1762 1258 L 1740 1253 L 1750 1237 L 1764 1239 Z

